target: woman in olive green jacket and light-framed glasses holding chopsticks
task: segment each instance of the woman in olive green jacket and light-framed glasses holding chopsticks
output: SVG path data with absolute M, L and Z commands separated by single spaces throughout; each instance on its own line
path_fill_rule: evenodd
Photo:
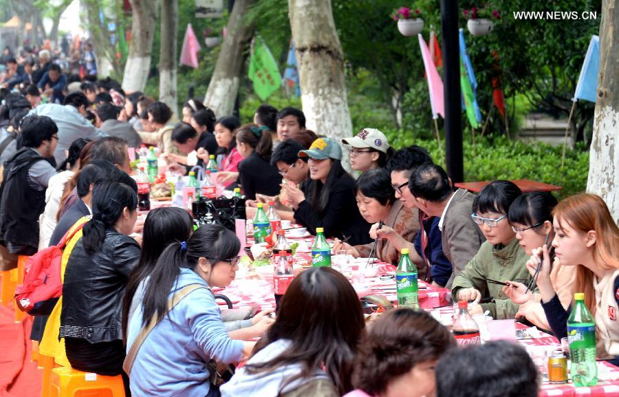
M 518 305 L 510 301 L 501 286 L 506 280 L 522 283 L 528 280 L 525 267 L 528 255 L 507 219 L 512 202 L 521 194 L 513 182 L 496 180 L 475 197 L 470 216 L 484 233 L 486 242 L 455 277 L 451 289 L 454 301 L 489 301 L 471 306 L 471 314 L 490 310 L 495 319 L 513 319 L 518 312 Z

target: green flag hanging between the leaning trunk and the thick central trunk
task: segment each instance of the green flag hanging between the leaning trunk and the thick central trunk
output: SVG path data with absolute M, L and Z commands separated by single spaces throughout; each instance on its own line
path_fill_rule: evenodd
M 260 36 L 254 37 L 248 76 L 261 100 L 266 100 L 281 87 L 277 62 Z

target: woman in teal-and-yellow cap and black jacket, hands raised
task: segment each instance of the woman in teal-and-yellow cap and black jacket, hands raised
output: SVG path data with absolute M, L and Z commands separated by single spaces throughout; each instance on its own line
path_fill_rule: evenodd
M 371 242 L 370 224 L 351 205 L 355 180 L 342 167 L 340 145 L 331 138 L 318 138 L 298 156 L 310 158 L 310 182 L 305 192 L 291 184 L 281 185 L 285 202 L 294 208 L 296 222 L 312 234 L 316 228 L 324 228 L 325 237 L 349 238 L 351 245 Z

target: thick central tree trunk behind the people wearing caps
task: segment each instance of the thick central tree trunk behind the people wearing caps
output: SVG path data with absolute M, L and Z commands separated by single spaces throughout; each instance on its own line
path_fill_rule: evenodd
M 331 0 L 288 0 L 288 17 L 307 128 L 337 141 L 351 136 L 344 54 Z

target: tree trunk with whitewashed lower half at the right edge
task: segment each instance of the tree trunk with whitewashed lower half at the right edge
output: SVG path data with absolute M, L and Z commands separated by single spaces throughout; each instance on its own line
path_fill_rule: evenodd
M 600 195 L 619 222 L 619 6 L 602 1 L 600 75 L 587 191 Z

